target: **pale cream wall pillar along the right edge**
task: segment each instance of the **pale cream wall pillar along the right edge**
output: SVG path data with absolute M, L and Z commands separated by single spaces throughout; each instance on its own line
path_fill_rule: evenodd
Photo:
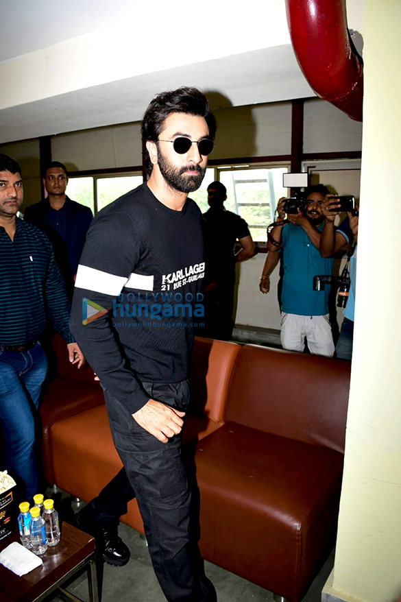
M 365 6 L 354 354 L 335 568 L 326 592 L 344 601 L 395 602 L 401 596 L 400 220 L 394 210 L 401 163 L 401 3 L 366 0 Z

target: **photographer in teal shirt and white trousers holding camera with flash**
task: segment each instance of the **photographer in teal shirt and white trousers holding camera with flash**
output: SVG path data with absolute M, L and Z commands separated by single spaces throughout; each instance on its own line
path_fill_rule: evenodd
M 321 206 L 328 195 L 323 184 L 308 186 L 302 208 L 286 214 L 284 200 L 278 203 L 280 220 L 289 224 L 275 226 L 269 234 L 269 251 L 260 276 L 259 289 L 269 291 L 269 276 L 278 263 L 282 250 L 281 344 L 284 349 L 304 351 L 304 339 L 311 353 L 331 357 L 335 346 L 328 316 L 328 294 L 313 290 L 316 274 L 331 274 L 332 258 L 319 252 L 324 215 Z

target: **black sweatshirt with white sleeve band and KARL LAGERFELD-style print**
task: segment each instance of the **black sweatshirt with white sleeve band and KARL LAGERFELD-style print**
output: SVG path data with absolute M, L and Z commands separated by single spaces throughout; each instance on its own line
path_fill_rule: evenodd
M 195 202 L 169 209 L 147 184 L 101 210 L 90 226 L 71 332 L 101 386 L 130 413 L 149 399 L 142 382 L 188 378 L 193 324 L 204 322 L 203 252 Z

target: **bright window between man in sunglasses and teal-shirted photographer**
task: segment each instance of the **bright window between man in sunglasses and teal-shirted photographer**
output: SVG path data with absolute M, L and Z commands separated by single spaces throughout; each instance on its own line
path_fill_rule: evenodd
M 280 197 L 287 196 L 282 174 L 288 167 L 219 167 L 219 180 L 227 189 L 226 209 L 247 222 L 254 241 L 266 240 Z

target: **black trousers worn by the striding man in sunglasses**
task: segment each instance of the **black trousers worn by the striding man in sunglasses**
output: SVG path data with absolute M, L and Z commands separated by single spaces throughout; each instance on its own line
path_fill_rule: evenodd
M 152 399 L 186 411 L 187 381 L 142 383 Z M 149 554 L 169 602 L 215 600 L 206 579 L 197 542 L 190 539 L 191 492 L 181 459 L 181 435 L 162 443 L 142 429 L 123 405 L 104 392 L 110 428 L 124 468 L 90 502 L 90 514 L 101 525 L 119 520 L 136 497 Z

